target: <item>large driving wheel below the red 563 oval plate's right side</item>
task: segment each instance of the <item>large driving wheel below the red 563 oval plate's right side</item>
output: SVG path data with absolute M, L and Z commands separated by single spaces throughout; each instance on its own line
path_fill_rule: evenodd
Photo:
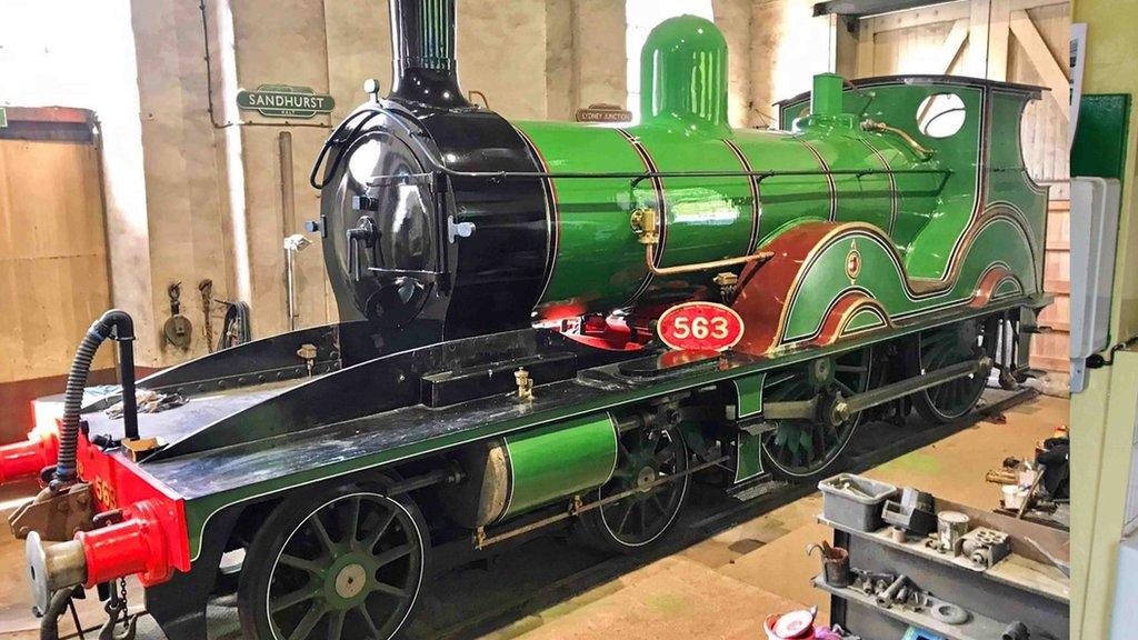
M 814 360 L 767 375 L 762 402 L 792 402 L 820 396 L 842 397 L 868 391 L 873 379 L 873 348 Z M 823 411 L 822 413 L 826 413 Z M 861 420 L 860 413 L 841 424 L 832 420 L 775 420 L 762 441 L 762 460 L 775 475 L 792 482 L 822 479 L 836 461 Z

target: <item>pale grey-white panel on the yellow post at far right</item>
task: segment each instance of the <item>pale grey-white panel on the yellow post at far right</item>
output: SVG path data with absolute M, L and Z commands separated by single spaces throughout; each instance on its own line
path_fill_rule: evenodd
M 1086 360 L 1110 339 L 1120 184 L 1071 180 L 1071 392 L 1083 388 Z

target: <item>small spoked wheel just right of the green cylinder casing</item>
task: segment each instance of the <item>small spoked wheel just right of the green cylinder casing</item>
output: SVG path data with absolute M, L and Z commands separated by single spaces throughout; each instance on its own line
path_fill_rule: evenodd
M 618 438 L 617 468 L 594 500 L 630 490 L 634 493 L 586 511 L 586 531 L 603 549 L 629 553 L 659 540 L 675 524 L 687 494 L 690 475 L 658 483 L 687 470 L 687 448 L 679 429 L 632 429 Z M 658 483 L 658 484 L 657 484 Z

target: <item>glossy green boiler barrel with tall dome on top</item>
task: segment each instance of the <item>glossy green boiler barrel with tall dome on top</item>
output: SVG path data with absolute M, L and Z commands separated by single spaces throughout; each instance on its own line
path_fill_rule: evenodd
M 641 57 L 641 122 L 634 126 L 516 122 L 553 173 L 813 172 L 767 178 L 661 177 L 547 182 L 554 260 L 537 319 L 651 307 L 715 290 L 724 269 L 654 276 L 629 224 L 633 211 L 662 218 L 659 268 L 739 257 L 802 220 L 866 221 L 892 232 L 910 214 L 932 215 L 937 181 L 879 171 L 935 166 L 896 137 L 863 131 L 843 114 L 843 81 L 818 79 L 816 115 L 793 131 L 733 130 L 727 123 L 727 47 L 695 16 L 661 23 Z M 830 171 L 861 175 L 825 175 Z M 899 245 L 899 248 L 904 247 Z M 741 268 L 732 269 L 739 272 Z

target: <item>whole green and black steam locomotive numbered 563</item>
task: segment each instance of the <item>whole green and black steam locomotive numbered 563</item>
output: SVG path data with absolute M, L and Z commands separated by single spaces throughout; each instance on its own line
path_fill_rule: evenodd
M 110 312 L 58 432 L 3 453 L 5 477 L 47 467 L 11 518 L 46 630 L 98 585 L 130 624 L 137 574 L 200 640 L 239 569 L 248 637 L 391 638 L 438 544 L 569 526 L 636 551 L 693 477 L 813 482 L 863 420 L 954 420 L 1026 375 L 1038 88 L 822 74 L 778 130 L 733 129 L 724 38 L 683 16 L 645 43 L 638 124 L 510 121 L 459 87 L 453 0 L 390 5 L 391 90 L 312 173 L 340 321 L 140 380 L 188 400 L 162 413 L 124 367 L 110 417 L 81 402 L 100 343 L 130 362 Z

